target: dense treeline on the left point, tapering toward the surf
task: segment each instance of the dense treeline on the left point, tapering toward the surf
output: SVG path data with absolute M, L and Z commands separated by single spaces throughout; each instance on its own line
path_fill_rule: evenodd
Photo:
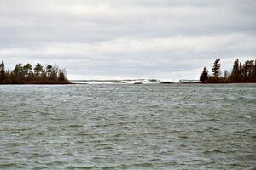
M 67 84 L 66 71 L 57 65 L 43 65 L 38 63 L 15 66 L 13 71 L 5 70 L 4 62 L 0 64 L 0 84 Z

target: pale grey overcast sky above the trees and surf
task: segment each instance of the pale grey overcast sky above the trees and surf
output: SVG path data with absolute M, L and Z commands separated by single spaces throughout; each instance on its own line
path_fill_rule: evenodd
M 256 59 L 255 0 L 0 0 L 0 60 L 69 79 L 198 79 Z

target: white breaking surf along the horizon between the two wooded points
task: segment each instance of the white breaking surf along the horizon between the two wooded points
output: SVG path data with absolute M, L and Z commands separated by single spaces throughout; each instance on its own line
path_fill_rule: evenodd
M 157 80 L 157 79 L 131 79 L 131 80 L 71 80 L 75 84 L 160 84 L 160 83 L 191 83 L 198 80 Z

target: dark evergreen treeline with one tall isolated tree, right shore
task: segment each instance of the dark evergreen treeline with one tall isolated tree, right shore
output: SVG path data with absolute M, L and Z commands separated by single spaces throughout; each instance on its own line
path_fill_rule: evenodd
M 212 75 L 204 67 L 200 81 L 204 83 L 229 83 L 229 82 L 256 82 L 256 60 L 247 60 L 243 64 L 236 59 L 232 71 L 220 71 L 220 59 L 216 59 L 212 66 Z

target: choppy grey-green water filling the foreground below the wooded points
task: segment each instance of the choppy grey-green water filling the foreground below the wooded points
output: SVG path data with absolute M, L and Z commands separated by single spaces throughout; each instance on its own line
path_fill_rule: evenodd
M 0 86 L 0 169 L 252 169 L 256 84 Z

